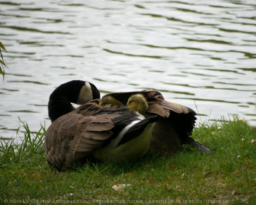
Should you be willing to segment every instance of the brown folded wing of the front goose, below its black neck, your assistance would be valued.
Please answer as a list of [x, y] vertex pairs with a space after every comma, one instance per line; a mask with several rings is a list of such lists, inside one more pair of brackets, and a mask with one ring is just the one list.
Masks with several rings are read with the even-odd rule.
[[114, 123], [108, 115], [83, 116], [71, 112], [55, 120], [45, 134], [47, 161], [68, 169], [91, 156], [112, 135]]

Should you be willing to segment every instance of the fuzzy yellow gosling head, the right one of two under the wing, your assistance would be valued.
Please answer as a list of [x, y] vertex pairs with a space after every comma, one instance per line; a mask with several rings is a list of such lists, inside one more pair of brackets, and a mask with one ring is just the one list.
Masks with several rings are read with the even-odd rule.
[[140, 114], [145, 114], [149, 105], [147, 103], [146, 98], [142, 94], [131, 95], [128, 99], [127, 107], [132, 111], [138, 111]]

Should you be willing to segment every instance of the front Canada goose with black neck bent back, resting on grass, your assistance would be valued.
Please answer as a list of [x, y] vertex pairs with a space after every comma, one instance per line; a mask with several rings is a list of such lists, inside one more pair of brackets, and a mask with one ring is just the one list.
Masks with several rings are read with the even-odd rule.
[[[89, 158], [129, 161], [148, 152], [157, 115], [145, 119], [127, 107], [100, 107], [93, 102], [97, 98], [99, 91], [86, 81], [69, 81], [53, 91], [48, 102], [52, 124], [45, 134], [48, 163], [71, 169]], [[71, 103], [82, 105], [75, 109]]]

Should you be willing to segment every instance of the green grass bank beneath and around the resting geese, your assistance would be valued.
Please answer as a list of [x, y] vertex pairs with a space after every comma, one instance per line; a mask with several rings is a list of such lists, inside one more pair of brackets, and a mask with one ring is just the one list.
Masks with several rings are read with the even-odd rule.
[[[45, 160], [45, 129], [31, 136], [23, 124], [22, 144], [0, 145], [0, 204], [256, 204], [256, 142], [251, 143], [256, 129], [237, 115], [232, 118], [201, 122], [195, 128], [192, 137], [216, 149], [211, 155], [187, 147], [172, 157], [89, 162], [66, 172]], [[115, 191], [112, 186], [118, 184], [130, 186]]]

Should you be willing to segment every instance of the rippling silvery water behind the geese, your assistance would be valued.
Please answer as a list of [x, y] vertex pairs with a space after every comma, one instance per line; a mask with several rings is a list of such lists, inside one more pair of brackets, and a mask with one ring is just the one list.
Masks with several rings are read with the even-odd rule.
[[[5, 63], [0, 136], [50, 125], [58, 85], [145, 88], [196, 110], [256, 125], [256, 0], [0, 0]], [[197, 108], [196, 108], [197, 107]], [[21, 137], [24, 128], [20, 128]]]

